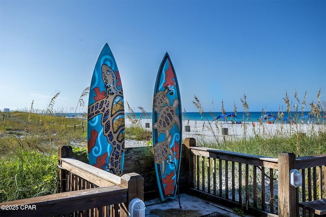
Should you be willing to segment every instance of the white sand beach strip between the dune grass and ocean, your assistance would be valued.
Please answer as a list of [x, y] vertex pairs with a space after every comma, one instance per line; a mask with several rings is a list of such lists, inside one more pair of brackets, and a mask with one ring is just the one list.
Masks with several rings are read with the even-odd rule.
[[[152, 130], [152, 119], [142, 119], [142, 127], [149, 131]], [[125, 119], [126, 127], [131, 126], [131, 122]], [[147, 125], [147, 126], [146, 126]], [[149, 127], [148, 127], [149, 126]], [[190, 131], [185, 131], [185, 126], [189, 126]], [[214, 142], [216, 139], [241, 139], [243, 137], [260, 136], [290, 136], [297, 133], [303, 133], [307, 136], [324, 131], [323, 125], [316, 124], [291, 124], [291, 123], [267, 123], [267, 122], [246, 122], [231, 123], [230, 121], [182, 121], [182, 140], [187, 137], [195, 138], [200, 142]], [[146, 146], [145, 141], [126, 140], [126, 147]]]

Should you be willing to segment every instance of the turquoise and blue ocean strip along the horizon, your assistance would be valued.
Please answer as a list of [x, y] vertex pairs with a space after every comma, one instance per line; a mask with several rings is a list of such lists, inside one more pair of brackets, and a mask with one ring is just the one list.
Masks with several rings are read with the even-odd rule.
[[[135, 112], [134, 113], [136, 118], [142, 119], [152, 119], [152, 113], [141, 113]], [[226, 112], [226, 115], [231, 114], [231, 112]], [[127, 115], [131, 115], [131, 113], [125, 113], [125, 118]], [[270, 116], [271, 115], [271, 116]], [[324, 114], [325, 115], [325, 114]], [[324, 115], [320, 118], [319, 122], [325, 121]], [[214, 118], [222, 116], [222, 112], [203, 112], [201, 115], [199, 112], [182, 112], [182, 119], [183, 120], [205, 120], [205, 121], [213, 121]], [[228, 117], [228, 121], [231, 121], [232, 117]], [[270, 122], [317, 122], [317, 118], [314, 118], [310, 115], [310, 112], [284, 112], [283, 117], [280, 116], [279, 112], [248, 112], [248, 115], [245, 112], [237, 112], [236, 117], [233, 117], [234, 121], [241, 121], [241, 122], [257, 122], [259, 119], [263, 121], [270, 121]], [[223, 118], [219, 118], [219, 120], [223, 120]]]

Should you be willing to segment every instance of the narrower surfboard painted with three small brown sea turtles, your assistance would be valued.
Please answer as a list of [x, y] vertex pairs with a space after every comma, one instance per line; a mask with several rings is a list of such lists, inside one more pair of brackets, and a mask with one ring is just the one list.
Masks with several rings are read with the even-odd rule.
[[168, 53], [159, 67], [153, 98], [154, 167], [161, 201], [174, 199], [181, 163], [181, 100], [177, 76]]

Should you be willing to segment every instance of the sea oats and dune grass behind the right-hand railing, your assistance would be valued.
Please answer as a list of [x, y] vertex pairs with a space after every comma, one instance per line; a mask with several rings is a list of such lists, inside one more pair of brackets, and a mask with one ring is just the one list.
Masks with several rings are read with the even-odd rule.
[[[240, 153], [255, 154], [258, 156], [267, 156], [277, 158], [280, 152], [292, 152], [295, 153], [297, 157], [303, 156], [312, 156], [320, 153], [326, 152], [326, 123], [324, 116], [324, 111], [326, 106], [324, 102], [319, 100], [321, 94], [320, 90], [317, 94], [316, 102], [311, 102], [310, 105], [310, 115], [317, 119], [316, 123], [311, 123], [309, 128], [305, 128], [306, 132], [303, 133], [304, 125], [301, 121], [297, 119], [304, 113], [304, 108], [306, 106], [306, 96], [307, 91], [305, 92], [304, 99], [301, 101], [297, 97], [295, 91], [294, 98], [295, 101], [292, 102], [286, 93], [285, 98], [283, 98], [286, 109], [278, 112], [277, 118], [281, 119], [284, 117], [284, 113], [290, 113], [294, 111], [293, 120], [289, 123], [282, 122], [278, 127], [279, 129], [275, 132], [270, 132], [270, 129], [262, 122], [262, 120], [256, 122], [247, 122], [244, 117], [241, 122], [242, 136], [241, 137], [232, 137], [232, 136], [223, 136], [223, 139], [219, 139], [218, 132], [221, 130], [224, 125], [223, 121], [209, 121], [209, 118], [206, 117], [207, 121], [201, 127], [202, 132], [204, 129], [208, 129], [213, 135], [212, 138], [205, 138], [205, 134], [198, 131], [199, 139], [197, 140], [197, 145], [212, 147], [222, 150], [235, 151]], [[250, 116], [249, 105], [247, 103], [247, 96], [243, 95], [243, 98], [240, 98], [242, 103], [243, 113], [247, 117]], [[199, 113], [202, 114], [204, 108], [202, 107], [200, 100], [194, 96], [193, 104], [198, 109]], [[301, 110], [300, 110], [301, 109]], [[225, 114], [224, 103], [222, 101], [221, 111]], [[234, 113], [237, 114], [237, 107], [234, 104]], [[266, 109], [262, 111], [266, 113]], [[231, 124], [231, 126], [233, 123]], [[259, 128], [257, 128], [257, 125]], [[195, 127], [198, 129], [198, 127]], [[253, 135], [248, 136], [248, 130], [251, 128]], [[200, 129], [200, 128], [199, 128]], [[215, 130], [213, 130], [215, 129]]]

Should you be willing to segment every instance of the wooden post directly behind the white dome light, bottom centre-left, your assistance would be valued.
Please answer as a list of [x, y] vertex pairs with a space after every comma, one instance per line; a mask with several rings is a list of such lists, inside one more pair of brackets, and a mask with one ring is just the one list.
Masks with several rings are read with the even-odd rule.
[[120, 216], [128, 216], [128, 206], [132, 199], [139, 198], [144, 201], [144, 178], [137, 173], [127, 173], [121, 176], [121, 185], [128, 188], [127, 202], [121, 204]]

